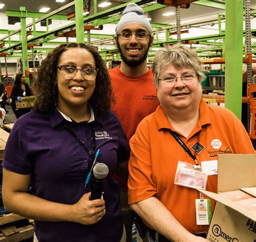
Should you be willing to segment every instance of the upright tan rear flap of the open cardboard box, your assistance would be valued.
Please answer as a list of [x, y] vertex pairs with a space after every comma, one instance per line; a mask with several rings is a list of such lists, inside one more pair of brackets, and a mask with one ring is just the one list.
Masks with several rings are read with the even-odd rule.
[[218, 155], [218, 192], [256, 186], [255, 174], [256, 154]]

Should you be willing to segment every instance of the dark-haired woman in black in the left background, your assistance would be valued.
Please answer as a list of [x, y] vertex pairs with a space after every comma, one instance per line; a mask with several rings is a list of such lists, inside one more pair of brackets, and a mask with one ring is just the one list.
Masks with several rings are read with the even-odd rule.
[[15, 101], [21, 101], [23, 96], [31, 96], [32, 92], [28, 84], [26, 84], [26, 78], [23, 73], [18, 73], [15, 77], [14, 87], [11, 91], [11, 108], [14, 111], [17, 119], [22, 115], [31, 111], [31, 108], [16, 108]]

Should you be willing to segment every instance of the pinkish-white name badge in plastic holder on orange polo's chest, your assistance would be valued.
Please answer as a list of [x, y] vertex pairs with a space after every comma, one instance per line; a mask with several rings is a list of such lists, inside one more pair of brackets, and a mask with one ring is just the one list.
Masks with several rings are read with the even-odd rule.
[[174, 184], [188, 188], [206, 189], [207, 173], [193, 169], [194, 165], [179, 161]]

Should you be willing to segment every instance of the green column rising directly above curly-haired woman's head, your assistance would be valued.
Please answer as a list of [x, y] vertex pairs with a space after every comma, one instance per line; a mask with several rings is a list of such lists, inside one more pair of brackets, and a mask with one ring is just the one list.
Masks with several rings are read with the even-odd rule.
[[77, 43], [84, 43], [84, 1], [75, 0]]

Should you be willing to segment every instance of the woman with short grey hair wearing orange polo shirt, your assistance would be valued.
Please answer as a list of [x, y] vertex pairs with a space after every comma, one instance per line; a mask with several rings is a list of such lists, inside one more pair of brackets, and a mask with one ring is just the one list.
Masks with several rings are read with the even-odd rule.
[[[197, 224], [201, 202], [194, 188], [217, 192], [218, 154], [255, 154], [241, 121], [201, 98], [201, 70], [197, 53], [183, 44], [156, 52], [160, 105], [130, 140], [128, 180], [129, 204], [150, 226], [149, 241], [208, 241], [208, 218]], [[201, 171], [200, 178], [186, 176], [185, 168]]]

